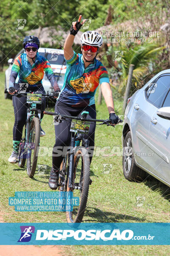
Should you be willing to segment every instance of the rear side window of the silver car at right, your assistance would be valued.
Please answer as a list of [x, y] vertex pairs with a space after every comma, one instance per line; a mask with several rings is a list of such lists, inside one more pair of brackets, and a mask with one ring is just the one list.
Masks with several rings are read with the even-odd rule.
[[161, 76], [156, 82], [149, 85], [147, 89], [147, 99], [159, 108], [165, 95], [170, 89], [170, 76]]

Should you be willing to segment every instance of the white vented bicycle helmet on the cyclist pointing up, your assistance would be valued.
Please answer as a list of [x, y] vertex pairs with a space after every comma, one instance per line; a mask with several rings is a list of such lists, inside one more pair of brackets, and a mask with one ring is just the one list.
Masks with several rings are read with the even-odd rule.
[[103, 43], [103, 38], [96, 31], [86, 31], [81, 35], [80, 42], [82, 44], [101, 47]]

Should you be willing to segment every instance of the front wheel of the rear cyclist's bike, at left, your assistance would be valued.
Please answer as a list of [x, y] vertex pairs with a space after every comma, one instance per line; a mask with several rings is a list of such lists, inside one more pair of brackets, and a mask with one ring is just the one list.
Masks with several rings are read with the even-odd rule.
[[30, 178], [34, 177], [37, 167], [38, 150], [40, 145], [40, 121], [34, 117], [27, 131], [28, 138], [28, 157], [27, 157], [27, 174]]

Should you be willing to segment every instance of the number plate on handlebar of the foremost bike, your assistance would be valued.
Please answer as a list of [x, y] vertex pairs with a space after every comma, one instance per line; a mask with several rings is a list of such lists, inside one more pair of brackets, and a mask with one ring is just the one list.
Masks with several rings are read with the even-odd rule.
[[88, 134], [90, 122], [73, 119], [71, 122], [70, 131]]

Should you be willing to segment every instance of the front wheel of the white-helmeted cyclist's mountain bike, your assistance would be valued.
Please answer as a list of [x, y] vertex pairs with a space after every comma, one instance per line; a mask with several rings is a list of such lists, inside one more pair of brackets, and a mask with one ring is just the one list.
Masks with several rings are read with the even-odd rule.
[[79, 206], [74, 206], [73, 211], [66, 212], [68, 223], [81, 222], [85, 213], [88, 200], [90, 182], [90, 160], [88, 150], [80, 147], [74, 155], [73, 188], [68, 187], [67, 192], [73, 192], [73, 196], [79, 197]]

